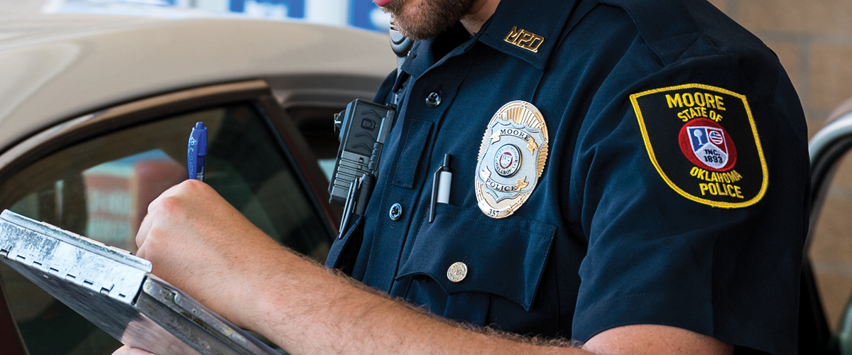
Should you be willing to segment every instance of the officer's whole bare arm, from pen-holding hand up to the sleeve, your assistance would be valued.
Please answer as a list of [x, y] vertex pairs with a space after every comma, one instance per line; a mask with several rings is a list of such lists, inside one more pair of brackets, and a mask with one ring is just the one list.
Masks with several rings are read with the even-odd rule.
[[[584, 353], [483, 335], [390, 300], [280, 247], [198, 180], [151, 203], [136, 243], [156, 275], [294, 354]], [[720, 344], [683, 329], [633, 326], [603, 331], [586, 346], [607, 354], [730, 353]]]

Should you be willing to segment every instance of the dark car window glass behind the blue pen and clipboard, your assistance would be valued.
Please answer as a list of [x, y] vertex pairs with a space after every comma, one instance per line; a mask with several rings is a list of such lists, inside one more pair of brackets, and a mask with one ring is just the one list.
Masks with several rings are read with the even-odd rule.
[[[4, 181], [0, 208], [135, 251], [148, 203], [187, 179], [187, 139], [199, 121], [208, 128], [206, 182], [279, 243], [323, 261], [331, 240], [325, 222], [249, 104], [167, 117], [68, 146]], [[8, 266], [0, 267], [0, 278], [31, 355], [110, 354], [120, 346]]]

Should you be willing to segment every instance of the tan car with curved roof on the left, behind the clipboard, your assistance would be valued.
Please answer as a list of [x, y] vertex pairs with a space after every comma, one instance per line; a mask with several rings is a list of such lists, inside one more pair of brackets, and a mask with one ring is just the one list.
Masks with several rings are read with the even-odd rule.
[[[305, 23], [0, 21], [0, 209], [132, 251], [147, 204], [187, 179], [187, 139], [203, 121], [206, 182], [323, 261], [339, 221], [326, 191], [332, 114], [371, 99], [395, 64], [386, 35]], [[5, 265], [0, 289], [0, 354], [120, 346]]]

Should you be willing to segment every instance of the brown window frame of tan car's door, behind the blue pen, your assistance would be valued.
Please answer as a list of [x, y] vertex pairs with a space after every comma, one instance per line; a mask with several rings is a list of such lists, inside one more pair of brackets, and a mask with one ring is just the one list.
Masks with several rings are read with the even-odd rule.
[[[337, 234], [339, 213], [328, 203], [327, 186], [323, 186], [327, 184], [325, 175], [316, 164], [316, 157], [310, 152], [308, 143], [285, 115], [268, 83], [262, 79], [179, 89], [111, 106], [45, 128], [0, 154], [0, 182], [30, 163], [84, 140], [164, 117], [240, 102], [250, 103], [274, 133], [282, 152], [294, 168], [294, 174], [308, 191], [316, 212], [322, 216], [331, 243], [331, 238]], [[26, 344], [20, 336], [5, 295], [3, 281], [0, 280], [0, 343], [9, 345], [3, 353], [26, 355]]]

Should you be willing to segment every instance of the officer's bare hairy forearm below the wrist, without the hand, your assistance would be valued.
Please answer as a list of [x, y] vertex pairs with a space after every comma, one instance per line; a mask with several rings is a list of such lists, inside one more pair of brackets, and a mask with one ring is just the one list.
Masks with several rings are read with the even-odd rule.
[[589, 353], [465, 329], [281, 251], [246, 323], [294, 354]]

